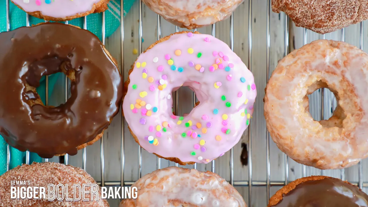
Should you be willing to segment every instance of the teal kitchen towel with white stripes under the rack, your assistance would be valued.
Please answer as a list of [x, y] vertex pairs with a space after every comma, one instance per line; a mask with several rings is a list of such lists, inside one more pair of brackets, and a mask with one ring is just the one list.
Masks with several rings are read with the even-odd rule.
[[[7, 30], [7, 16], [6, 16], [6, 1], [0, 0], [0, 32]], [[135, 0], [124, 0], [124, 16], [128, 13]], [[120, 26], [120, 0], [110, 0], [108, 3], [108, 10], [105, 12], [105, 36], [106, 38], [112, 35]], [[42, 19], [29, 16], [30, 25], [35, 25], [40, 22], [45, 22]], [[18, 27], [26, 26], [26, 13], [15, 6], [9, 0], [9, 23], [10, 30]], [[77, 18], [68, 22], [68, 24], [83, 28], [84, 18]], [[87, 16], [87, 29], [102, 40], [102, 13], [90, 14]], [[49, 76], [49, 97], [51, 96], [54, 85], [61, 74], [53, 74]], [[41, 78], [40, 87], [37, 88], [40, 98], [45, 103], [45, 77]], [[25, 152], [20, 152], [14, 148], [10, 148], [10, 166], [12, 169], [22, 163], [25, 163]], [[41, 162], [42, 159], [35, 153], [30, 154], [30, 162]], [[0, 175], [6, 172], [7, 165], [7, 144], [3, 137], [0, 136]]]

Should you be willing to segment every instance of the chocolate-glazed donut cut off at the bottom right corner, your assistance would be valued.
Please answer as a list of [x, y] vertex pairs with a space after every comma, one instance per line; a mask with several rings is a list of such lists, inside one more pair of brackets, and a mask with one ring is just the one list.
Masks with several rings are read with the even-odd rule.
[[368, 206], [368, 195], [346, 181], [327, 176], [294, 180], [276, 192], [268, 207]]

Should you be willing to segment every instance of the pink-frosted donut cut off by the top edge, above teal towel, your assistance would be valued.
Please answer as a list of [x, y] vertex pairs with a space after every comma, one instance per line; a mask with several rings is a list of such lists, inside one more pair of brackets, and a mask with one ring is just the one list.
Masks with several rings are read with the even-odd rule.
[[33, 17], [46, 21], [69, 21], [107, 10], [110, 0], [11, 0]]

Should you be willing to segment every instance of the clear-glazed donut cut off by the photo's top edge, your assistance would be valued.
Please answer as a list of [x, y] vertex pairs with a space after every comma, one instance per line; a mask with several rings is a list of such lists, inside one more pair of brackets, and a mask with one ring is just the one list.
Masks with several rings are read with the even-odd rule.
[[195, 29], [230, 17], [244, 0], [142, 0], [148, 8], [166, 21], [187, 29]]

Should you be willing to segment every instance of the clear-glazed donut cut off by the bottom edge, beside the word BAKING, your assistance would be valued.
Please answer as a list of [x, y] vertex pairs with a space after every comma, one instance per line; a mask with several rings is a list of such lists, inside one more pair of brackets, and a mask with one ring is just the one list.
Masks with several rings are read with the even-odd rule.
[[137, 199], [124, 199], [119, 207], [247, 207], [236, 189], [213, 172], [168, 167], [143, 176], [132, 186], [140, 187]]

